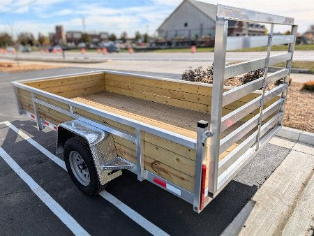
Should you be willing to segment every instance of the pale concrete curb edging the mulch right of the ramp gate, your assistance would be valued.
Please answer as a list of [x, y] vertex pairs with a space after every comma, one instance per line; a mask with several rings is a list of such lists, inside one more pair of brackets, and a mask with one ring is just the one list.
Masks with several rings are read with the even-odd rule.
[[289, 140], [304, 142], [308, 145], [314, 145], [314, 133], [300, 131], [299, 129], [283, 126], [278, 133], [278, 137], [287, 138]]

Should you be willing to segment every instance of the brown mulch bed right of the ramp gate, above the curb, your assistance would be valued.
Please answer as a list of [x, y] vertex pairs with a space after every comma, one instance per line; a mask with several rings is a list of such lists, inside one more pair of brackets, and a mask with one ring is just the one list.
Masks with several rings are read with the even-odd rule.
[[283, 125], [314, 133], [314, 93], [301, 90], [302, 87], [301, 83], [291, 83]]

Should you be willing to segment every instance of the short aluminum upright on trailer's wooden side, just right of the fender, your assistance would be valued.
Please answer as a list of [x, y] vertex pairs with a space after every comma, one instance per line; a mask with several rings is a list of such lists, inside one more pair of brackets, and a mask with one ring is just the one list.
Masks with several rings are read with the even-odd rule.
[[136, 165], [137, 179], [143, 181], [144, 177], [144, 142], [142, 132], [139, 128], [135, 129], [135, 145], [136, 145]]

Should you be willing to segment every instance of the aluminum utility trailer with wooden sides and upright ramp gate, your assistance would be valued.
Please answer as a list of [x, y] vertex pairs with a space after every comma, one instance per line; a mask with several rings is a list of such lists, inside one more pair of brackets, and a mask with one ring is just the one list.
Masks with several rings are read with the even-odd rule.
[[[270, 33], [230, 37], [229, 20], [268, 23]], [[274, 36], [274, 24], [290, 25], [291, 35]], [[213, 84], [94, 71], [13, 87], [20, 114], [58, 132], [57, 152], [84, 193], [130, 170], [201, 212], [281, 128], [296, 33], [289, 17], [217, 5]], [[271, 55], [271, 45], [283, 44], [287, 52]], [[258, 46], [268, 47], [265, 57], [226, 66], [227, 50]], [[283, 61], [285, 68], [268, 73]], [[262, 78], [223, 86], [260, 68]]]

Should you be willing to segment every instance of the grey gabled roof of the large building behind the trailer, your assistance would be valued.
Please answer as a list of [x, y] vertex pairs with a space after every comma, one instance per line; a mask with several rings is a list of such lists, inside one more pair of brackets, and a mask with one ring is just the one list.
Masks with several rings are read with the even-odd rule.
[[189, 2], [191, 3], [193, 6], [195, 6], [195, 8], [197, 8], [198, 10], [202, 11], [202, 13], [204, 13], [204, 15], [207, 15], [207, 17], [209, 17], [211, 20], [214, 20], [214, 22], [216, 22], [216, 16], [217, 16], [217, 6], [211, 3], [204, 3], [202, 1], [195, 1], [195, 0], [184, 0], [182, 1], [179, 6], [177, 6], [177, 8], [163, 21], [163, 23], [160, 24], [160, 27], [158, 27], [157, 30], [159, 30], [161, 27], [163, 27], [163, 24], [165, 24], [165, 22], [167, 22], [167, 20], [170, 19], [170, 17], [180, 8], [180, 6], [183, 3]]

